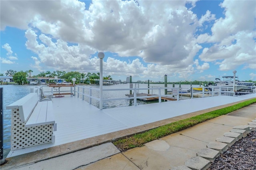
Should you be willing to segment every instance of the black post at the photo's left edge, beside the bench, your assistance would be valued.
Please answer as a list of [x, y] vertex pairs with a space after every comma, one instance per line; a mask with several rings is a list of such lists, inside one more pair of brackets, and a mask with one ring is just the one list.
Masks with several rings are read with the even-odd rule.
[[0, 164], [5, 164], [7, 161], [4, 159], [4, 113], [3, 113], [3, 96], [4, 96], [4, 88], [0, 87], [0, 111], [1, 111], [1, 118], [0, 118], [0, 124], [1, 124], [1, 128], [0, 128], [0, 151], [1, 151], [1, 158], [0, 158]]

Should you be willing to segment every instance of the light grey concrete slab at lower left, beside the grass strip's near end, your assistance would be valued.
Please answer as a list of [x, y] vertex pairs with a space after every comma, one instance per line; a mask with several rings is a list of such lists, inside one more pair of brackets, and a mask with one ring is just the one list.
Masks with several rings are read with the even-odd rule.
[[81, 165], [96, 162], [108, 156], [120, 153], [112, 143], [101, 144], [85, 150], [43, 160], [16, 170], [71, 170]]

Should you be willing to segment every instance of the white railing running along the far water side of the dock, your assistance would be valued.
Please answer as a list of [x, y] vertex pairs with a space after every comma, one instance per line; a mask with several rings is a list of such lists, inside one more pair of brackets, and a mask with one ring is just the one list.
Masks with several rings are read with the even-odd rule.
[[[164, 94], [165, 89], [172, 91], [172, 88], [177, 89], [178, 88], [178, 95], [174, 96], [173, 94]], [[158, 98], [158, 103], [162, 102], [162, 98], [163, 97], [170, 97], [172, 99], [183, 99], [182, 95], [186, 95], [187, 98], [194, 98], [194, 96], [201, 94], [200, 97], [210, 97], [210, 96], [216, 96], [216, 95], [228, 95], [228, 96], [234, 96], [234, 92], [233, 92], [233, 87], [225, 87], [225, 90], [222, 90], [223, 87], [220, 86], [211, 86], [211, 87], [204, 87], [202, 86], [202, 91], [193, 91], [192, 87], [191, 87], [191, 91], [188, 92], [190, 93], [189, 97], [188, 94], [184, 94], [185, 91], [187, 91], [187, 88], [182, 88], [182, 87], [147, 87], [147, 88], [127, 88], [127, 89], [102, 89], [103, 92], [104, 91], [127, 91], [129, 96], [126, 97], [115, 97], [115, 98], [107, 98], [107, 99], [102, 99], [103, 102], [107, 102], [107, 101], [119, 101], [119, 100], [134, 100], [134, 106], [137, 105], [136, 101], [137, 99], [147, 99], [147, 98]], [[138, 93], [138, 91], [149, 91], [151, 92], [151, 94], [148, 95], [143, 95], [140, 96], [141, 93]], [[157, 94], [153, 94], [153, 90], [157, 93]], [[32, 89], [31, 89], [32, 91]], [[51, 89], [51, 91], [53, 92], [53, 88]], [[40, 95], [38, 89], [33, 89], [34, 93], [38, 93], [38, 95]], [[47, 92], [47, 91], [46, 91]], [[67, 91], [61, 91], [61, 92], [67, 92]], [[73, 95], [81, 98], [82, 100], [86, 100], [88, 101], [89, 104], [92, 104], [92, 99], [96, 100], [96, 101], [100, 101], [100, 95], [98, 95], [100, 93], [100, 89], [98, 88], [94, 88], [94, 87], [87, 87], [87, 86], [83, 86], [83, 85], [76, 85], [73, 88], [70, 89], [71, 93], [74, 93]], [[130, 93], [129, 93], [130, 92]], [[132, 93], [131, 93], [132, 92]], [[145, 93], [147, 94], [147, 93]], [[73, 96], [72, 95], [72, 96]], [[173, 98], [174, 97], [174, 98]], [[198, 96], [199, 97], [199, 96]], [[87, 99], [86, 99], [87, 98]]]

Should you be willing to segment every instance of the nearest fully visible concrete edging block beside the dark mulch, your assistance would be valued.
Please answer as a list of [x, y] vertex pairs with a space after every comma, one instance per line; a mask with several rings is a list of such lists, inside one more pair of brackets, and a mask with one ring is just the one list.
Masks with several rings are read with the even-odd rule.
[[207, 170], [210, 167], [210, 161], [200, 156], [196, 156], [186, 160], [185, 166], [192, 170]]

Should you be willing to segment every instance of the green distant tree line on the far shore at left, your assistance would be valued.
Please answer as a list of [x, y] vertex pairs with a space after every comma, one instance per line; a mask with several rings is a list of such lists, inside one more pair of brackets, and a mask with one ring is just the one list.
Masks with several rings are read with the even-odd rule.
[[[79, 73], [78, 71], [70, 71], [66, 73], [66, 71], [46, 71], [40, 72], [38, 75], [31, 75], [32, 70], [28, 71], [14, 71], [14, 70], [7, 70], [5, 75], [13, 77], [15, 83], [22, 85], [23, 83], [28, 83], [27, 78], [38, 78], [38, 77], [48, 77], [48, 83], [52, 83], [53, 80], [50, 80], [50, 77], [58, 77], [58, 79], [65, 79], [67, 82], [72, 82], [73, 78], [76, 78], [75, 83], [82, 83], [82, 84], [95, 84], [95, 80], [100, 79], [100, 73]], [[0, 73], [0, 76], [4, 76], [3, 73]], [[107, 77], [103, 77], [103, 79], [110, 79], [112, 77], [108, 75]]]

